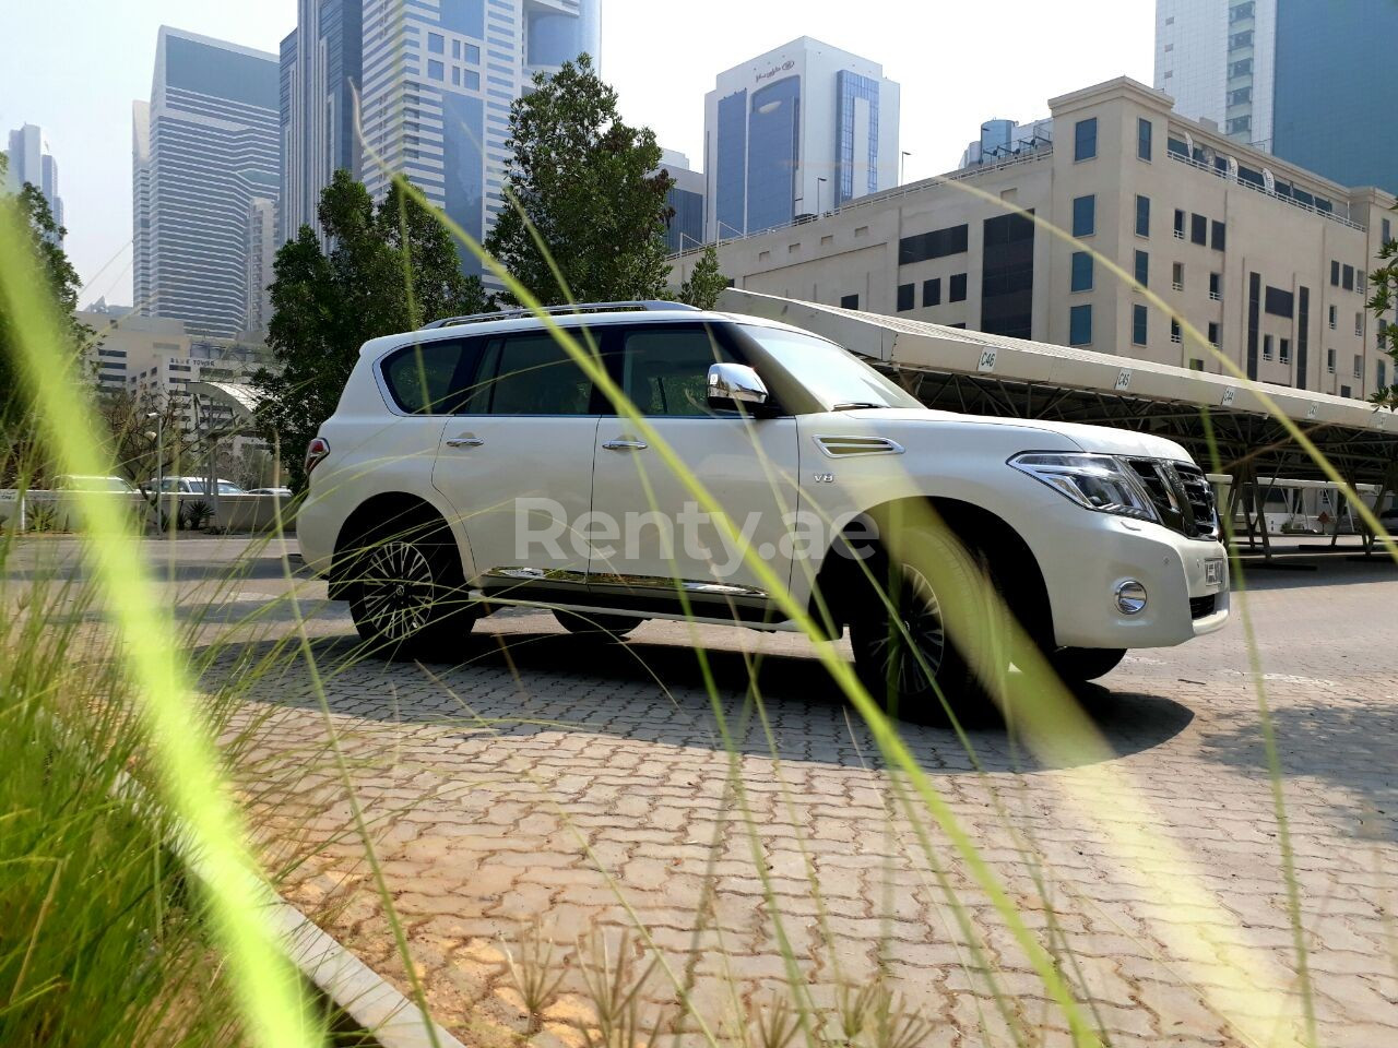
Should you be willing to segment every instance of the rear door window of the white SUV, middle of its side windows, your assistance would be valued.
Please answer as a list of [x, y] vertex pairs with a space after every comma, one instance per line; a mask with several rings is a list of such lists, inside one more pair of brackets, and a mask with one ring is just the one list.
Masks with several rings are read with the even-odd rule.
[[491, 342], [466, 411], [478, 415], [590, 415], [593, 383], [545, 333]]

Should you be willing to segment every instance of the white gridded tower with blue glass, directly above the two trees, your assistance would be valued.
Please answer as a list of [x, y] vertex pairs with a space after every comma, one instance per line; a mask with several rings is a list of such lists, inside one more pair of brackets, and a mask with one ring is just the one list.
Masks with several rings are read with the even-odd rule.
[[[405, 175], [477, 240], [505, 207], [510, 103], [597, 57], [600, 0], [363, 0], [363, 182]], [[480, 264], [464, 247], [463, 264]]]

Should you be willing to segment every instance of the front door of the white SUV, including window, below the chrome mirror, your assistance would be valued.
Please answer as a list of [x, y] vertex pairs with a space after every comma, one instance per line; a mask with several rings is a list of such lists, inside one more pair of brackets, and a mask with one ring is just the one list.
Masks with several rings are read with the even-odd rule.
[[795, 419], [710, 409], [709, 366], [745, 363], [721, 326], [628, 326], [617, 342], [614, 367], [626, 394], [742, 541], [726, 542], [682, 475], [625, 418], [608, 414], [593, 465], [593, 513], [601, 521], [594, 534], [607, 541], [593, 544], [590, 587], [612, 598], [661, 599], [674, 598], [678, 585], [696, 601], [763, 606], [770, 587], [742, 553], [751, 546], [790, 583], [788, 527], [800, 509]]

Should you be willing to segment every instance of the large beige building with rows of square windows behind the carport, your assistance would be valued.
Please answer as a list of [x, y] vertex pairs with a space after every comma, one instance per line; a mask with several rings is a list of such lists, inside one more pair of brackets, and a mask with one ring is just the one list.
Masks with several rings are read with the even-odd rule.
[[[1392, 380], [1364, 305], [1392, 196], [1240, 147], [1131, 80], [1048, 106], [1051, 137], [720, 242], [724, 272], [749, 291], [1222, 370], [1174, 313], [1262, 381], [1367, 397]], [[696, 257], [675, 260], [677, 282]]]

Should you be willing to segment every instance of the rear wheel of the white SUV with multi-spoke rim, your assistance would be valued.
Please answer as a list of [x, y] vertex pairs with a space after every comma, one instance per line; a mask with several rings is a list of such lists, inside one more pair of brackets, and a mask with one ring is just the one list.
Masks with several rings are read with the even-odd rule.
[[461, 558], [442, 518], [398, 518], [355, 542], [350, 615], [372, 654], [435, 658], [460, 644], [480, 618], [467, 598]]

